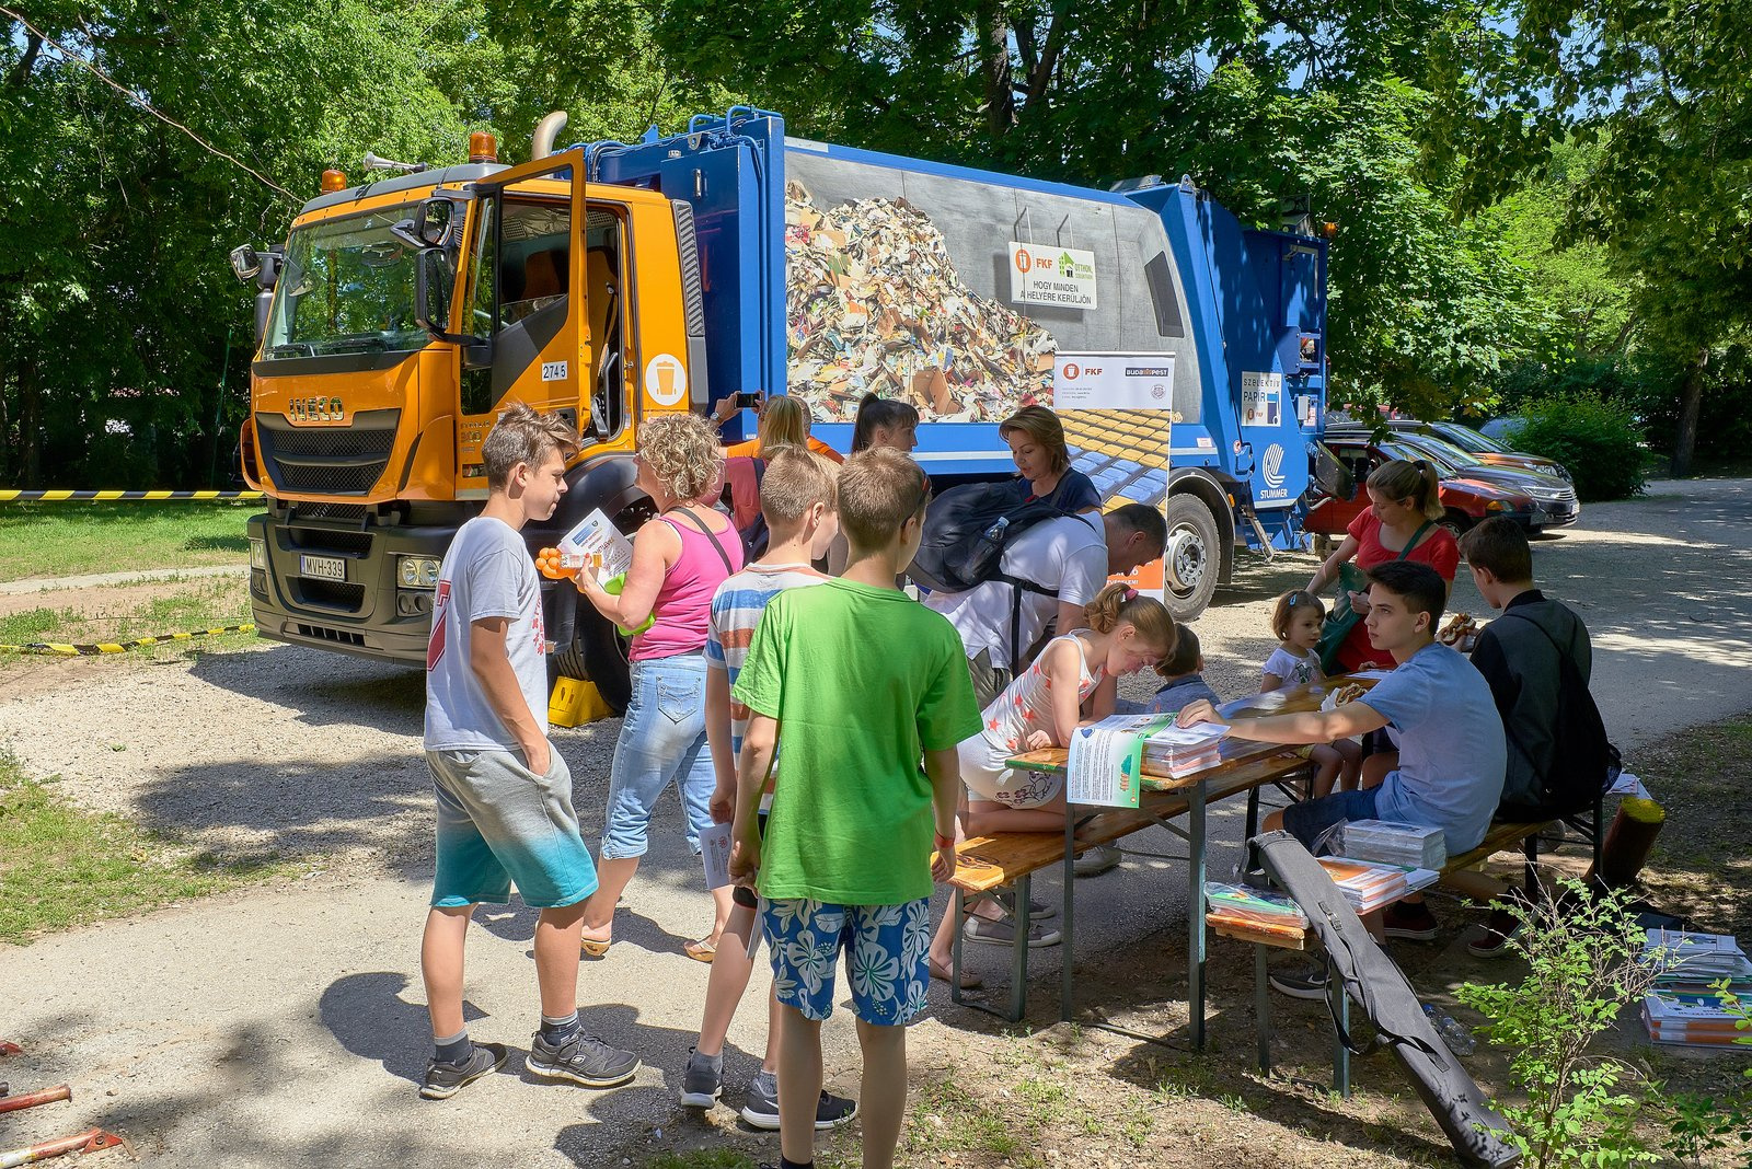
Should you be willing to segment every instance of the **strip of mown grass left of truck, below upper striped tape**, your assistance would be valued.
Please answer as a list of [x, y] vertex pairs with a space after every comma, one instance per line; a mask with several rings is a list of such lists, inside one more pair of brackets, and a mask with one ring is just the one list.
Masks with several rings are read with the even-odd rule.
[[0, 581], [249, 564], [261, 504], [0, 504]]

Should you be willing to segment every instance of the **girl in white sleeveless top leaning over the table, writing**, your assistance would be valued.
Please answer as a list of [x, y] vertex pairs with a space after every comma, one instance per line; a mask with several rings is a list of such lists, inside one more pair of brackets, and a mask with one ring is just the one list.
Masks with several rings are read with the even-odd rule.
[[[1063, 831], [1063, 774], [1028, 772], [1009, 766], [1027, 751], [1063, 747], [1077, 726], [1113, 714], [1114, 691], [1123, 676], [1174, 653], [1179, 630], [1155, 597], [1141, 597], [1125, 584], [1107, 584], [1083, 609], [1088, 628], [1046, 642], [1041, 656], [983, 712], [985, 726], [962, 740], [962, 782], [967, 810], [962, 831], [986, 836], [999, 831]], [[1014, 920], [999, 900], [979, 898], [967, 906], [964, 934], [969, 942], [1009, 945]], [[1046, 906], [1034, 906], [1028, 945], [1056, 945], [1058, 933], [1041, 926]], [[930, 973], [950, 976], [950, 945], [955, 938], [953, 906], [930, 942]], [[964, 971], [964, 987], [978, 985]]]

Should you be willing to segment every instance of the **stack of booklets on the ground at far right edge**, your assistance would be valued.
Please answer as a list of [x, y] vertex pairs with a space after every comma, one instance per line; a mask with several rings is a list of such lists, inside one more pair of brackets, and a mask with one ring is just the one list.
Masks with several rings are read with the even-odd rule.
[[1752, 1003], [1752, 961], [1731, 934], [1650, 929], [1643, 954], [1661, 975], [1643, 996], [1649, 1038], [1680, 1046], [1726, 1046], [1752, 1031], [1738, 1027], [1722, 990]]

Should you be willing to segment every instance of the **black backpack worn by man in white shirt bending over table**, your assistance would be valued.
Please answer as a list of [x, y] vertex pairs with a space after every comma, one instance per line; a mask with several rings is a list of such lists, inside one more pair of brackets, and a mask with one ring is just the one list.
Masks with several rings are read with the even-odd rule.
[[1013, 539], [1035, 523], [1067, 513], [1044, 499], [1025, 502], [1014, 483], [967, 483], [953, 486], [925, 513], [925, 539], [908, 576], [932, 592], [964, 593], [986, 581], [1009, 584], [1009, 665], [1020, 668], [1028, 646], [1021, 635], [1021, 595], [1056, 597], [1056, 588], [1007, 576], [1000, 564]]

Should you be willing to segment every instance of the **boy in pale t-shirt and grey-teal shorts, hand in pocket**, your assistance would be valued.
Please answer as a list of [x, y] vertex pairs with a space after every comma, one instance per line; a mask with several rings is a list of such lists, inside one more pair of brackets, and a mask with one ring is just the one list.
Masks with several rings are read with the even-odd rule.
[[487, 506], [450, 541], [426, 649], [426, 765], [438, 803], [438, 858], [420, 942], [433, 1059], [420, 1096], [447, 1099], [496, 1071], [499, 1043], [463, 1022], [463, 947], [475, 905], [503, 905], [512, 882], [536, 922], [541, 1029], [526, 1068], [592, 1088], [639, 1069], [578, 1024], [578, 931], [596, 866], [578, 835], [571, 772], [547, 738], [541, 584], [520, 536], [566, 494], [578, 436], [557, 415], [513, 404], [482, 443]]

